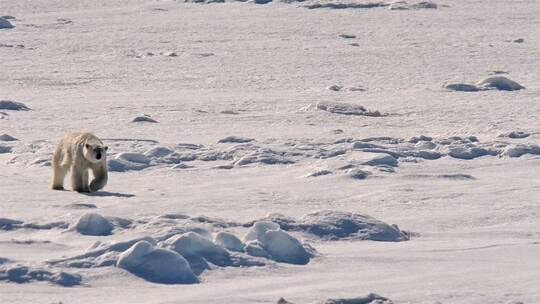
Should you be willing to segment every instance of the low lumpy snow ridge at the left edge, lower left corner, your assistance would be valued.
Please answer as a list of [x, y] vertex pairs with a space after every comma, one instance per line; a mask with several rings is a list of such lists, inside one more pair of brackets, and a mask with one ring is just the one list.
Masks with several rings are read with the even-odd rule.
[[21, 265], [6, 265], [0, 267], [0, 280], [14, 283], [30, 283], [37, 281], [71, 287], [81, 284], [81, 276], [64, 271], [49, 271], [40, 268], [31, 268]]

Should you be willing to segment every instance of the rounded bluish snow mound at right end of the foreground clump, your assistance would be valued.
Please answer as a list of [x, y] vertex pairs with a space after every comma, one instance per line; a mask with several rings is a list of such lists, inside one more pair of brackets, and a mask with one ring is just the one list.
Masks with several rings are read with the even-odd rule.
[[310, 254], [300, 241], [274, 222], [255, 222], [244, 236], [244, 241], [249, 255], [297, 265], [306, 265], [310, 260]]

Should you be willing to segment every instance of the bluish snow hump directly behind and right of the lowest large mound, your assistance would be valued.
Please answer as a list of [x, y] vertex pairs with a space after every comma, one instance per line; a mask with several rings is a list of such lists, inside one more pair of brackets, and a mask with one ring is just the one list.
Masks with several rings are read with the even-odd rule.
[[173, 236], [164, 245], [184, 256], [190, 264], [202, 257], [217, 266], [231, 265], [231, 256], [227, 250], [195, 232]]

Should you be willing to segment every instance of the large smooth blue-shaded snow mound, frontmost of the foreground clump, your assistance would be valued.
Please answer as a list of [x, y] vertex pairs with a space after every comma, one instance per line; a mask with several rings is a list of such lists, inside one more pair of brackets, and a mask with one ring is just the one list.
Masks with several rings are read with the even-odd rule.
[[147, 241], [139, 241], [120, 254], [116, 266], [154, 283], [199, 283], [186, 259], [174, 251], [156, 249]]

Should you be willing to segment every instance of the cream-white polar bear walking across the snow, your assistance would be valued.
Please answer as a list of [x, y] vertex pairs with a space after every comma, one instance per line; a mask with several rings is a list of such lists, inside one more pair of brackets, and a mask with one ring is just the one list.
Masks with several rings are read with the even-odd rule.
[[[91, 192], [102, 189], [107, 184], [107, 146], [94, 134], [66, 134], [52, 161], [52, 184], [54, 190], [64, 189], [64, 177], [71, 170], [71, 187], [77, 192]], [[88, 184], [88, 170], [94, 180]]]

